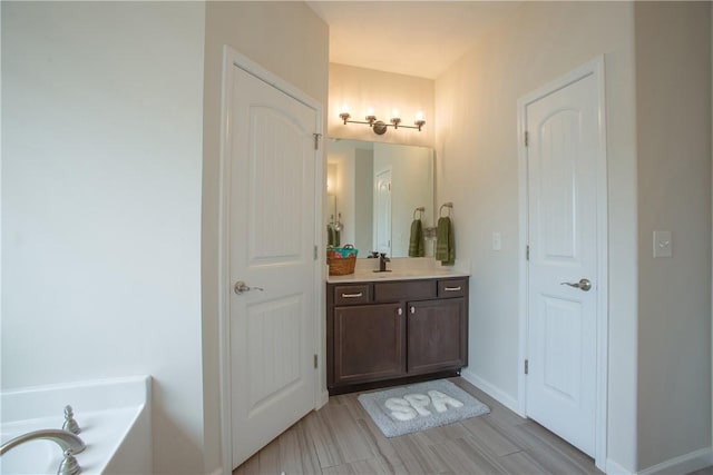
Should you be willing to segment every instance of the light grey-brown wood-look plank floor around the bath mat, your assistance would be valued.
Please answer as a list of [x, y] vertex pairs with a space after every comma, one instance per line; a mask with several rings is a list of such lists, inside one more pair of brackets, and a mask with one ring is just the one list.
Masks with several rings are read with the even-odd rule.
[[462, 378], [452, 378], [490, 414], [387, 438], [356, 399], [330, 397], [233, 475], [293, 474], [602, 474], [594, 461], [522, 419]]

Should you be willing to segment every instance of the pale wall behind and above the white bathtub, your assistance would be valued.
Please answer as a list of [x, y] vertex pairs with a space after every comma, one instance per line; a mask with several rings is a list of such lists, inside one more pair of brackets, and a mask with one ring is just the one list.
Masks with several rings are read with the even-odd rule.
[[198, 2], [2, 2], [2, 387], [154, 376], [156, 473], [203, 471], [203, 40]]

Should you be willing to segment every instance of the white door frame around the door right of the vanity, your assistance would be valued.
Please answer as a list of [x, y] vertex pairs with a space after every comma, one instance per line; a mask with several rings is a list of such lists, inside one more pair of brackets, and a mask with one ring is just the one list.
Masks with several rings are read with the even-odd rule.
[[519, 190], [519, 359], [518, 359], [518, 412], [527, 417], [527, 378], [524, 364], [528, 355], [528, 188], [527, 147], [525, 131], [527, 106], [543, 97], [565, 88], [587, 76], [593, 76], [597, 85], [598, 146], [596, 164], [596, 225], [597, 225], [597, 303], [596, 303], [596, 402], [595, 402], [595, 464], [604, 471], [606, 466], [607, 441], [607, 385], [608, 385], [608, 208], [607, 208], [607, 154], [605, 115], [605, 69], [604, 56], [599, 56], [567, 75], [536, 89], [517, 101], [518, 117], [518, 190]]

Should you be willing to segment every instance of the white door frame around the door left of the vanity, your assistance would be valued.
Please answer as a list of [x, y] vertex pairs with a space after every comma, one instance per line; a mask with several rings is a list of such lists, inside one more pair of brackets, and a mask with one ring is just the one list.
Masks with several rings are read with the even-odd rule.
[[[225, 475], [232, 473], [233, 465], [233, 434], [232, 434], [232, 408], [231, 408], [231, 283], [229, 283], [229, 199], [231, 199], [231, 160], [229, 150], [229, 123], [232, 103], [233, 67], [237, 67], [260, 80], [273, 86], [293, 99], [314, 109], [316, 115], [316, 133], [323, 137], [323, 108], [316, 99], [307, 96], [293, 85], [264, 69], [247, 57], [237, 52], [228, 44], [223, 47], [223, 83], [221, 92], [221, 156], [218, 166], [218, 372], [219, 372], [219, 414], [221, 414], [221, 464]], [[322, 232], [323, 221], [323, 181], [324, 181], [324, 152], [322, 140], [318, 140], [319, 147], [314, 150], [314, 245], [316, 249], [324, 246]], [[318, 360], [322, 362], [323, 352], [321, 344], [324, 335], [321, 315], [324, 315], [324, 290], [323, 290], [323, 259], [316, 253], [314, 259], [314, 354]], [[318, 365], [314, 376], [314, 408], [321, 407], [325, 400], [322, 390], [323, 365]], [[285, 427], [286, 428], [286, 427]]]

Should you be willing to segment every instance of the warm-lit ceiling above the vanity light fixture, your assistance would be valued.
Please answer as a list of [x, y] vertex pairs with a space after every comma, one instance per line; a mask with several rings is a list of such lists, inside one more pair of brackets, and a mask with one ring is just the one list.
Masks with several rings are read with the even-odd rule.
[[518, 1], [307, 1], [330, 27], [330, 62], [436, 79]]

